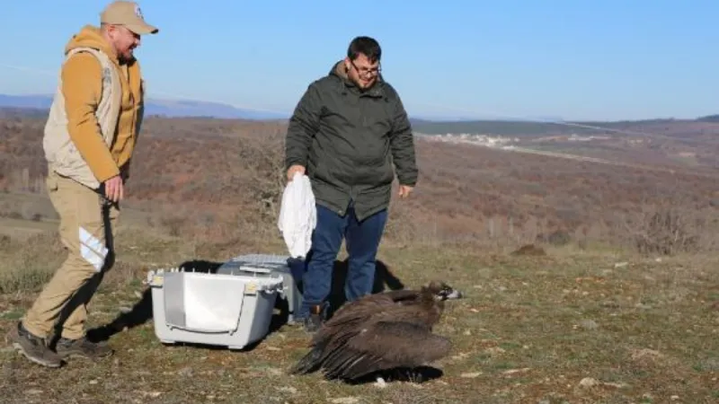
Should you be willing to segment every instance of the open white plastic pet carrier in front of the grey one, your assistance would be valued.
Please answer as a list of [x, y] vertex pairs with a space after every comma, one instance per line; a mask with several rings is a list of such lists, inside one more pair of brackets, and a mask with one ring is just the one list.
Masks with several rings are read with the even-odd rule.
[[[158, 269], [152, 288], [155, 335], [162, 342], [189, 342], [241, 349], [264, 338], [284, 276], [251, 261], [228, 261], [216, 273]], [[286, 264], [287, 265], [287, 264]]]

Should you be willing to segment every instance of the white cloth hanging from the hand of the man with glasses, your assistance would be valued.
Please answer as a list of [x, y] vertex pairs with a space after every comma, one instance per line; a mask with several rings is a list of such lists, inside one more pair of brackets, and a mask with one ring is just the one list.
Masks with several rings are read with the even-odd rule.
[[292, 258], [304, 258], [312, 246], [312, 232], [317, 224], [315, 194], [309, 177], [295, 173], [282, 192], [278, 227]]

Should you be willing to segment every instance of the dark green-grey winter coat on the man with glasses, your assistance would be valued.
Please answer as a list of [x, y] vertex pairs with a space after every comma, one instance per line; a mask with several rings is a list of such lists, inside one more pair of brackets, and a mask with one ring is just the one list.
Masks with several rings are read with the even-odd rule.
[[361, 92], [336, 63], [297, 103], [285, 164], [306, 167], [316, 202], [339, 215], [351, 200], [360, 221], [385, 209], [395, 171], [402, 185], [417, 181], [412, 127], [399, 95], [381, 76]]

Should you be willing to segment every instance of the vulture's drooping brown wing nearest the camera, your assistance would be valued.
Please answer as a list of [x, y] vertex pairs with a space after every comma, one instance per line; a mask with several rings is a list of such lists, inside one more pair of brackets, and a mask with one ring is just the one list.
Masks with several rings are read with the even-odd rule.
[[422, 324], [378, 321], [324, 353], [324, 373], [330, 378], [356, 379], [398, 367], [416, 367], [447, 356], [448, 338]]

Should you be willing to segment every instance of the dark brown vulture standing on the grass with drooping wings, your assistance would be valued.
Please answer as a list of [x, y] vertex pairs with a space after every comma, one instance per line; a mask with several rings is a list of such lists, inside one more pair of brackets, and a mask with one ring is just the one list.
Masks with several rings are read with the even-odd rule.
[[447, 356], [448, 338], [432, 333], [445, 301], [461, 292], [432, 281], [420, 290], [368, 294], [346, 303], [313, 336], [291, 374], [321, 370], [327, 379], [355, 381], [370, 373], [413, 372]]

